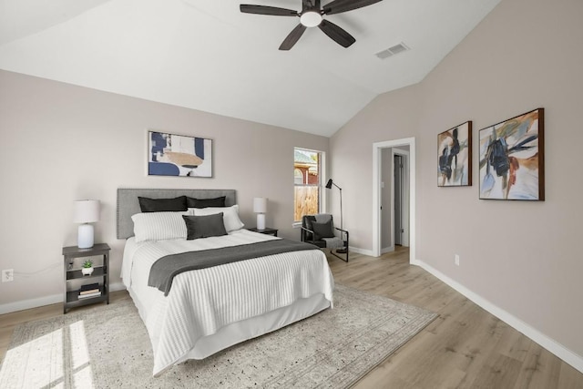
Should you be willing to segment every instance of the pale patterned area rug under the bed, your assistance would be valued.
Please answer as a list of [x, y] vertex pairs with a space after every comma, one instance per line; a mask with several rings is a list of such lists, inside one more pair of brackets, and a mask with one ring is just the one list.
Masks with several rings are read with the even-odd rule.
[[15, 328], [2, 388], [345, 388], [435, 319], [336, 285], [334, 308], [152, 377], [146, 327], [124, 299]]

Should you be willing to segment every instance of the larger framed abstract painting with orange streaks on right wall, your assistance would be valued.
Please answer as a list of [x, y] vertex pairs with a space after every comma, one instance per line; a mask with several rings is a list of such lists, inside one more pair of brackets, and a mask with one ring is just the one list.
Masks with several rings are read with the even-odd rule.
[[480, 129], [480, 199], [545, 200], [544, 108]]

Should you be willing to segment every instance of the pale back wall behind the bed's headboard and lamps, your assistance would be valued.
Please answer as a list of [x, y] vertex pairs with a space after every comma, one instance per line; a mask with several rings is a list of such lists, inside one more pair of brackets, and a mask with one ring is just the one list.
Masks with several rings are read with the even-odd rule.
[[[147, 129], [213, 139], [212, 179], [148, 177]], [[0, 71], [0, 312], [62, 299], [62, 247], [77, 245], [73, 200], [101, 200], [96, 241], [112, 247], [119, 282], [116, 190], [237, 189], [243, 222], [253, 197], [269, 198], [267, 224], [299, 240], [293, 222], [293, 148], [328, 151], [328, 138], [85, 87]]]

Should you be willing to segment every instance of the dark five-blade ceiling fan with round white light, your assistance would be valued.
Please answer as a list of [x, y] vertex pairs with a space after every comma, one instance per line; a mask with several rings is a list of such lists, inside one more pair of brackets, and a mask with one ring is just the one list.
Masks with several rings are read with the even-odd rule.
[[321, 7], [321, 0], [302, 0], [302, 12], [277, 6], [241, 4], [240, 12], [258, 15], [299, 16], [300, 24], [283, 40], [280, 50], [291, 49], [302, 37], [306, 28], [315, 26], [319, 27], [324, 34], [330, 36], [338, 45], [348, 47], [356, 42], [356, 39], [344, 31], [343, 28], [325, 20], [322, 16], [341, 14], [366, 5], [373, 5], [380, 1], [382, 0], [333, 0]]

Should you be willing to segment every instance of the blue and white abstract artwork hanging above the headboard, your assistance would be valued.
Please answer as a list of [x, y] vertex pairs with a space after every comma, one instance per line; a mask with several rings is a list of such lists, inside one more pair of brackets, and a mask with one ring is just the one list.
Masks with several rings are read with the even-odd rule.
[[212, 139], [148, 131], [148, 176], [212, 177]]

